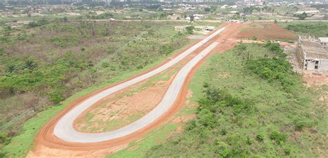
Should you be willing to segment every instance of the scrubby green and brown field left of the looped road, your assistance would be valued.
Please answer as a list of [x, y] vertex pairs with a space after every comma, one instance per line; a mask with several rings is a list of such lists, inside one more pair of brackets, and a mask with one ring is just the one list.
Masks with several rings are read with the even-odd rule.
[[174, 25], [42, 19], [1, 36], [0, 143], [75, 92], [143, 69], [183, 47], [187, 33], [177, 33]]

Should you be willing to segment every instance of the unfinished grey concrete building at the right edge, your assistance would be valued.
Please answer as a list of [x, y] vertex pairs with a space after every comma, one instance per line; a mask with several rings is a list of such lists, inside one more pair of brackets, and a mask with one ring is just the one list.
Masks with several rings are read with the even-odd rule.
[[302, 69], [328, 71], [328, 48], [322, 37], [299, 37], [298, 60]]

